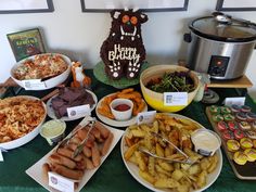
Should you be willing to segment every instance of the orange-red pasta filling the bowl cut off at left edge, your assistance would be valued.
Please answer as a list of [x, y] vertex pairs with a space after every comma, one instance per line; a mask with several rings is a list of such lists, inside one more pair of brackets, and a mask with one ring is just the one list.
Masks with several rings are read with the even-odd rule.
[[0, 100], [0, 143], [27, 135], [44, 117], [44, 105], [35, 98], [13, 97]]

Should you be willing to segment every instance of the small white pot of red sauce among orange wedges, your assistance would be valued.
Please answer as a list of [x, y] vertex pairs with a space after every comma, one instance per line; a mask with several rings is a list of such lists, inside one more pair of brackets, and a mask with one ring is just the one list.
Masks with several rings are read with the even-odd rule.
[[128, 120], [132, 116], [133, 103], [128, 99], [115, 99], [110, 106], [116, 120]]

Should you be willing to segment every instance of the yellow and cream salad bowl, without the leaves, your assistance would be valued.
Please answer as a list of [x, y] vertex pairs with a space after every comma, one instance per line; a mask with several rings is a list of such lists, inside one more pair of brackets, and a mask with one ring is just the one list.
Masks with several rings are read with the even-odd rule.
[[146, 103], [158, 112], [179, 112], [187, 107], [196, 95], [200, 87], [199, 77], [192, 71], [190, 72], [190, 77], [193, 80], [194, 89], [193, 91], [188, 92], [188, 102], [185, 105], [165, 105], [164, 93], [152, 91], [146, 88], [146, 85], [152, 79], [162, 78], [165, 73], [188, 71], [188, 68], [178, 65], [154, 65], [143, 71], [140, 76], [140, 87]]

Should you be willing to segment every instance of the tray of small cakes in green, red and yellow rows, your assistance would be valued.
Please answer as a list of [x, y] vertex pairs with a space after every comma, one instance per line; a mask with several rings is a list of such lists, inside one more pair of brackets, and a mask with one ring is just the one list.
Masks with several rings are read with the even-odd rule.
[[222, 139], [222, 148], [235, 176], [256, 179], [256, 114], [246, 105], [206, 107], [214, 130]]

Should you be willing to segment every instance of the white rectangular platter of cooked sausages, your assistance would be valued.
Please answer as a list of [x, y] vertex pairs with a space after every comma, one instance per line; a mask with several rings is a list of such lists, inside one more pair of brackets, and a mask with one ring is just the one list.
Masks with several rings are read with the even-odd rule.
[[[66, 137], [67, 142], [60, 142], [26, 170], [28, 176], [49, 191], [57, 192], [49, 185], [49, 172], [53, 172], [73, 181], [74, 191], [79, 192], [124, 133], [124, 130], [114, 129], [98, 120], [91, 130], [88, 125], [77, 126], [75, 129]], [[82, 151], [74, 157], [74, 152], [85, 140]]]

